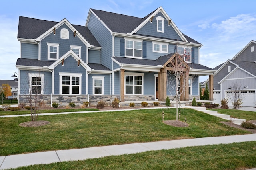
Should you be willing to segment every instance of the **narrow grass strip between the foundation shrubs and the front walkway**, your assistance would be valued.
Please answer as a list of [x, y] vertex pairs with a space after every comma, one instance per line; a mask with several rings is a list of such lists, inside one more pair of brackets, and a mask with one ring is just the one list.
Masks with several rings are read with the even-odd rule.
[[[49, 109], [40, 110], [39, 113], [61, 113], [61, 112], [76, 112], [76, 111], [97, 111], [99, 109]], [[0, 116], [4, 115], [26, 115], [30, 114], [30, 110], [19, 110], [19, 111], [0, 111]]]

